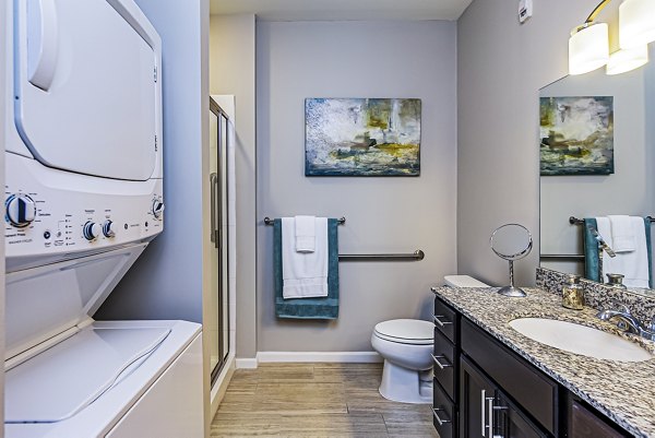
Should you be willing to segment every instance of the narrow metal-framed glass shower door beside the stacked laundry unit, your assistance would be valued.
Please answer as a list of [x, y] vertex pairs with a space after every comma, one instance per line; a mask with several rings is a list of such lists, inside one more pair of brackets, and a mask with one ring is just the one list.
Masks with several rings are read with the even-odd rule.
[[210, 98], [210, 203], [212, 254], [211, 318], [205, 324], [210, 336], [210, 366], [212, 383], [218, 377], [229, 353], [228, 301], [228, 202], [227, 202], [227, 115]]

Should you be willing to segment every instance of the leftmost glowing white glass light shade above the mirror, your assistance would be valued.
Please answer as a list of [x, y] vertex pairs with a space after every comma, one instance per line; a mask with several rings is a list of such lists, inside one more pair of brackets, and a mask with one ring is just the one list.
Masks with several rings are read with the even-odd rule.
[[609, 31], [607, 23], [576, 27], [569, 38], [569, 74], [584, 74], [609, 60]]

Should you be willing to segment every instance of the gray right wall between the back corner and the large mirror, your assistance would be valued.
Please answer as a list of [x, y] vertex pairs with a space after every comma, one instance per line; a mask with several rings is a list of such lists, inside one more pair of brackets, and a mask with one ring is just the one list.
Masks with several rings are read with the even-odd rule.
[[[535, 0], [516, 20], [515, 1], [475, 0], [457, 26], [457, 262], [460, 273], [508, 282], [507, 263], [488, 247], [507, 222], [536, 240], [519, 261], [517, 283], [534, 284], [539, 252], [538, 90], [567, 74], [568, 39], [596, 0]], [[616, 13], [610, 3], [599, 16]]]

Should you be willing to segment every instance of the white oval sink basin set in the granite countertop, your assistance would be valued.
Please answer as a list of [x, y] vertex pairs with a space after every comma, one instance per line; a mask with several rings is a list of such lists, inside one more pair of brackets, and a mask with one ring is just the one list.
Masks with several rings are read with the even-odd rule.
[[634, 342], [573, 322], [519, 318], [510, 321], [510, 327], [541, 344], [597, 359], [642, 362], [655, 357]]

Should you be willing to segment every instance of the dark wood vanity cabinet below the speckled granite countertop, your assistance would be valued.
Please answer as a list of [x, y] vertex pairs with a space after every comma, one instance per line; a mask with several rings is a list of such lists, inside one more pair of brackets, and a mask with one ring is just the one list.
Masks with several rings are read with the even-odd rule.
[[439, 297], [433, 360], [441, 438], [629, 436]]

